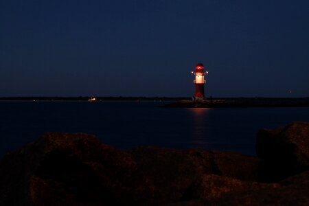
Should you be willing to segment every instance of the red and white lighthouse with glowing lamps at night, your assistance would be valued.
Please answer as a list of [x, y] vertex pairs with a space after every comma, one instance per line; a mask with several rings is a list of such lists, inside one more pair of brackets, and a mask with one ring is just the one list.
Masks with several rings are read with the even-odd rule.
[[194, 73], [195, 76], [193, 81], [195, 85], [194, 101], [203, 101], [205, 97], [204, 84], [206, 83], [204, 76], [208, 73], [208, 71], [204, 71], [204, 65], [202, 63], [198, 63], [195, 67], [195, 71], [192, 71], [192, 73]]

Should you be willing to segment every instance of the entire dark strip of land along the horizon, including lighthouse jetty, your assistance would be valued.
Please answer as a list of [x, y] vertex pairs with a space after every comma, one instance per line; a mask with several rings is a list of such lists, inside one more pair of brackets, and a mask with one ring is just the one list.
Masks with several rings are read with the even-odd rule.
[[[2, 97], [0, 101], [80, 101], [87, 102], [90, 96], [80, 97]], [[167, 102], [164, 107], [225, 108], [225, 107], [309, 107], [309, 98], [206, 98], [194, 102], [192, 98], [169, 97], [95, 97], [95, 102]]]

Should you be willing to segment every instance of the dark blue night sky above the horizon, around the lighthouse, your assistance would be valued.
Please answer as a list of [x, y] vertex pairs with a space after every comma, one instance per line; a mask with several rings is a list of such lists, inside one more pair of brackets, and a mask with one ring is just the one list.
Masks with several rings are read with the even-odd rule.
[[190, 97], [197, 62], [207, 96], [309, 96], [309, 1], [0, 1], [0, 96]]

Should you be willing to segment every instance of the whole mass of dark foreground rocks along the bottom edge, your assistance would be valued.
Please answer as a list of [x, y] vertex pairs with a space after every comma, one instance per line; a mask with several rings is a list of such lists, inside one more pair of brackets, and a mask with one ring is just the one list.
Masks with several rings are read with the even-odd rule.
[[0, 205], [308, 205], [309, 123], [259, 130], [258, 157], [45, 133], [0, 161]]

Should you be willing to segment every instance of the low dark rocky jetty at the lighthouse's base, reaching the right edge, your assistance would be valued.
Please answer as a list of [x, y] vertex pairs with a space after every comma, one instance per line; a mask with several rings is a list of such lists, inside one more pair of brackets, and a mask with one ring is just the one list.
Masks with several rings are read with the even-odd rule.
[[224, 107], [309, 107], [309, 98], [208, 98], [204, 101], [179, 100], [165, 107], [224, 108]]

